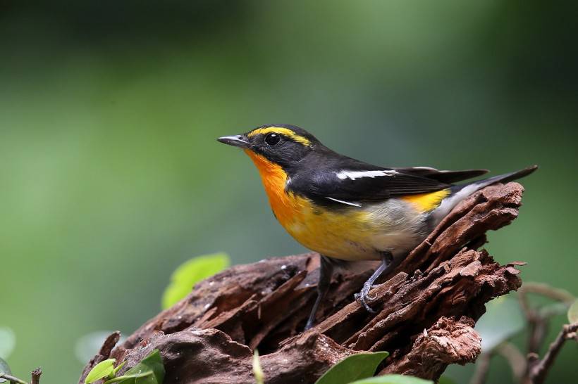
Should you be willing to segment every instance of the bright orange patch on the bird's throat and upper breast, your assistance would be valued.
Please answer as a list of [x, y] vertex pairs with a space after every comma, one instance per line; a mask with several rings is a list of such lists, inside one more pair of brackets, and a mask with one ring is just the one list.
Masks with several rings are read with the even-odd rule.
[[293, 193], [285, 192], [288, 176], [281, 165], [275, 164], [250, 150], [245, 149], [245, 153], [249, 155], [259, 170], [271, 209], [278, 221], [283, 226], [294, 222], [296, 215], [300, 215], [300, 200], [302, 199], [296, 198]]

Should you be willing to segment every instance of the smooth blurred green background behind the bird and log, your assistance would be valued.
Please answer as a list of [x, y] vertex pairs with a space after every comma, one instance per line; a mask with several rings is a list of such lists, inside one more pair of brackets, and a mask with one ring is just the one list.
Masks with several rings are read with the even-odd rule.
[[[570, 4], [570, 3], [569, 3]], [[159, 312], [171, 271], [305, 251], [215, 141], [312, 131], [382, 165], [531, 164], [491, 233], [526, 281], [578, 293], [576, 20], [557, 2], [0, 0], [0, 326], [19, 376], [73, 383], [87, 333]], [[564, 321], [560, 316], [550, 339]], [[575, 373], [567, 345], [548, 382]], [[452, 368], [467, 382], [473, 366]], [[508, 383], [496, 359], [489, 382]]]

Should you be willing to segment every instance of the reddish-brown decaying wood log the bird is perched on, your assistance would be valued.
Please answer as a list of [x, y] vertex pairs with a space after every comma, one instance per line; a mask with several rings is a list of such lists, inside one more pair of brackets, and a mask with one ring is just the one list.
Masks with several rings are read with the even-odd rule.
[[[275, 257], [238, 265], [198, 283], [185, 299], [147, 321], [102, 359], [134, 366], [161, 351], [165, 383], [254, 383], [257, 348], [266, 383], [314, 383], [331, 365], [359, 351], [391, 352], [380, 373], [436, 379], [448, 364], [472, 362], [481, 340], [474, 324], [484, 304], [516, 290], [515, 267], [486, 251], [485, 233], [517, 217], [523, 188], [484, 188], [460, 203], [431, 235], [371, 290], [369, 314], [355, 300], [371, 271], [342, 271], [319, 310], [319, 324], [302, 333], [312, 307], [319, 257]], [[110, 343], [110, 340], [109, 340]]]

